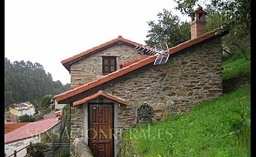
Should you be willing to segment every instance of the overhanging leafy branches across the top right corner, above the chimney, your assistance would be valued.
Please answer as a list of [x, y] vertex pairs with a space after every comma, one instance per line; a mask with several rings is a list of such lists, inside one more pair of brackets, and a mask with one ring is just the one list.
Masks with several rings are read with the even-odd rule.
[[182, 14], [192, 15], [194, 7], [200, 4], [207, 4], [211, 9], [220, 12], [221, 25], [224, 29], [230, 30], [237, 25], [244, 25], [244, 29], [251, 32], [251, 0], [175, 0], [177, 7]]

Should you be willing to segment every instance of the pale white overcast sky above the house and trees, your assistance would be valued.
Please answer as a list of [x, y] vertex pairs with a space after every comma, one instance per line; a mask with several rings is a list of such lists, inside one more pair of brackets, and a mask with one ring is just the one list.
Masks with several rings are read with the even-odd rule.
[[40, 63], [53, 81], [67, 84], [70, 73], [62, 60], [119, 35], [145, 44], [147, 22], [158, 22], [163, 9], [189, 22], [175, 5], [173, 0], [5, 0], [5, 58]]

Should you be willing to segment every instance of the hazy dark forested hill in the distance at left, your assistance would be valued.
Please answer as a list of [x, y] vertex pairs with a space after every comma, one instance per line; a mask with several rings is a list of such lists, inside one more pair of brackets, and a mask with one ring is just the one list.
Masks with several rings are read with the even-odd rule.
[[23, 60], [11, 63], [5, 58], [5, 109], [25, 101], [38, 106], [42, 97], [67, 90], [70, 90], [70, 84], [64, 86], [59, 80], [54, 82], [51, 73], [45, 73], [43, 65]]

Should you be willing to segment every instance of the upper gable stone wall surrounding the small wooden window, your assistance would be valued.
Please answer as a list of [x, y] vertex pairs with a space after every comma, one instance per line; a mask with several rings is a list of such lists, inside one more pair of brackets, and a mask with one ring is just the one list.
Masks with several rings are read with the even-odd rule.
[[87, 82], [98, 79], [102, 75], [102, 56], [117, 56], [117, 70], [120, 69], [119, 65], [127, 61], [140, 59], [143, 56], [148, 56], [140, 50], [135, 50], [126, 44], [114, 44], [105, 50], [101, 50], [96, 54], [77, 61], [70, 68], [71, 75], [71, 88], [81, 86]]

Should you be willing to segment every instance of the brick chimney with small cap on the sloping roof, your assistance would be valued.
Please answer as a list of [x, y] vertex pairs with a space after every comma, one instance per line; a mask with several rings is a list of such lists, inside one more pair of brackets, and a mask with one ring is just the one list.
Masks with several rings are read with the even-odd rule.
[[191, 39], [199, 37], [205, 34], [205, 10], [200, 6], [196, 10], [194, 10], [194, 14], [191, 16]]

